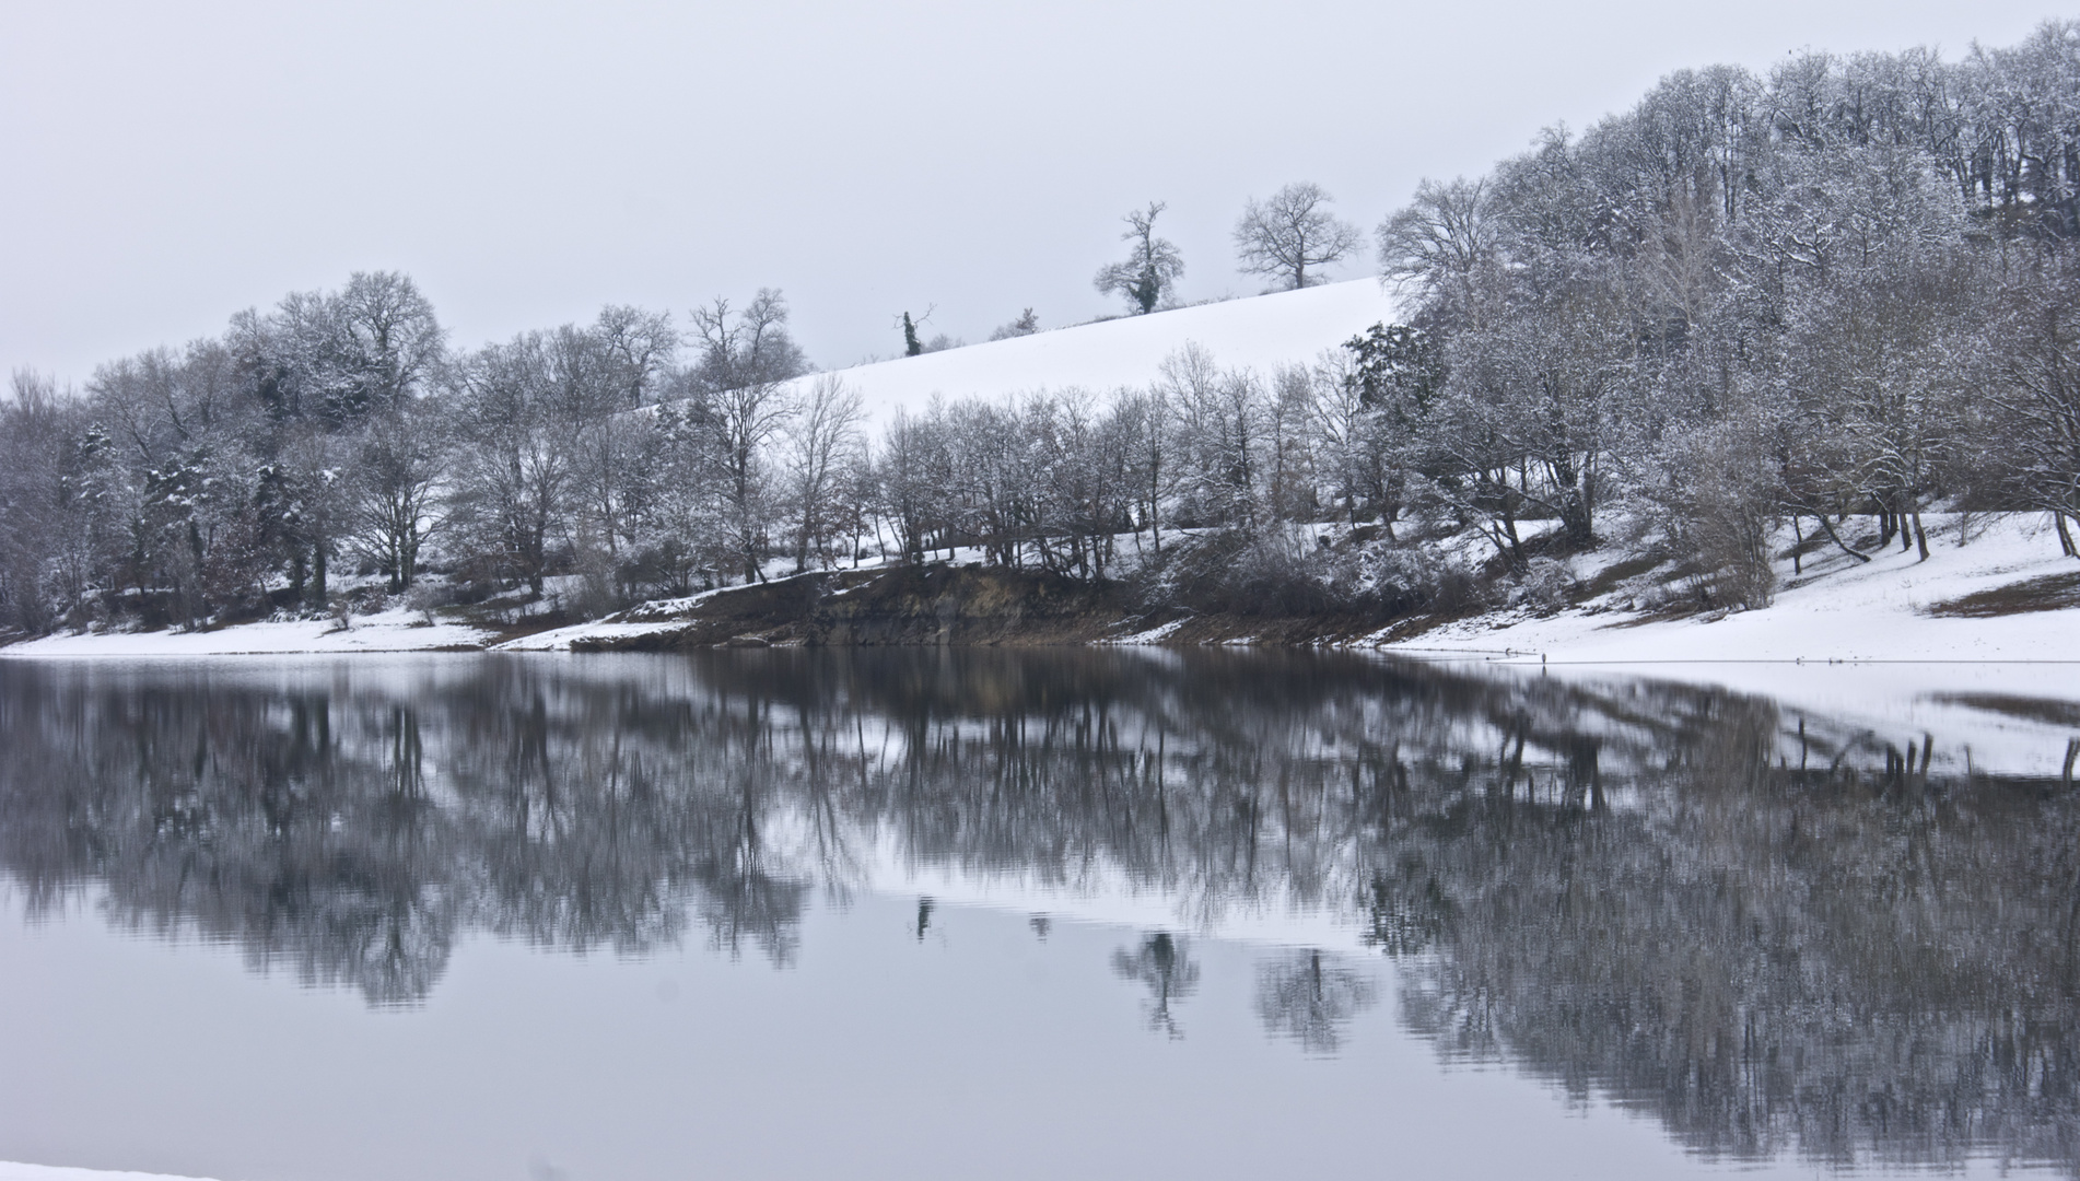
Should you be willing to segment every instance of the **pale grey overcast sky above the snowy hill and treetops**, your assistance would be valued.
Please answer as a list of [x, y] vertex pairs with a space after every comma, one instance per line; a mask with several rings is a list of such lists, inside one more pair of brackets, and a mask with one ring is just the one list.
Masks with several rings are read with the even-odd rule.
[[903, 310], [1113, 310], [1090, 277], [1148, 200], [1181, 297], [1252, 293], [1229, 227], [1288, 181], [1371, 229], [1668, 71], [1957, 58], [2047, 2], [0, 0], [0, 366], [85, 380], [376, 268], [464, 345], [780, 287], [844, 366]]

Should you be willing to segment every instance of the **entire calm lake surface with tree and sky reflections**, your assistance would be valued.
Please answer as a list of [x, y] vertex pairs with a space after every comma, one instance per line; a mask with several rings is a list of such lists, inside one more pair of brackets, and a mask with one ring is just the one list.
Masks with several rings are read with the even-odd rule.
[[0, 661], [0, 1160], [2074, 1175], [2076, 838], [1654, 682]]

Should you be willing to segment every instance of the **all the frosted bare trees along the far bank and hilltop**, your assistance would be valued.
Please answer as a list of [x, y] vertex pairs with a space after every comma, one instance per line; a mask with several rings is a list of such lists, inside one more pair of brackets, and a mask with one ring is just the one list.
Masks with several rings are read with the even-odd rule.
[[[1310, 195], [1238, 227], [1285, 285], [1358, 241]], [[1142, 314], [1181, 270], [1156, 212], [1098, 277]], [[1681, 71], [1425, 181], [1373, 245], [1406, 322], [1342, 349], [1250, 372], [1188, 347], [1142, 387], [953, 397], [876, 437], [778, 291], [472, 351], [408, 277], [354, 274], [79, 391], [15, 374], [0, 634], [322, 613], [349, 586], [424, 609], [553, 586], [584, 618], [961, 549], [1387, 618], [1627, 545], [1758, 607], [1787, 528], [1926, 557], [1934, 509], [2049, 514], [2080, 557], [2076, 21], [1959, 60]]]

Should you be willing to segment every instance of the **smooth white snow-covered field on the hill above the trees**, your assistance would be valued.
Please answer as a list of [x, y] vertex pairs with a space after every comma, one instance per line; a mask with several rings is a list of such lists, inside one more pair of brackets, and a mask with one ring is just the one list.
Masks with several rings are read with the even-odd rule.
[[1146, 385], [1163, 358], [1188, 343], [1202, 345], [1225, 368], [1269, 372], [1281, 364], [1312, 362], [1323, 349], [1394, 318], [1394, 295], [1377, 279], [1352, 279], [838, 372], [880, 422], [894, 410], [921, 410], [934, 395], [1003, 397], [1034, 389], [1107, 393]]

